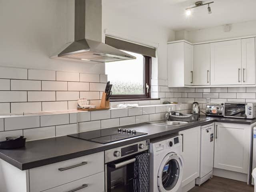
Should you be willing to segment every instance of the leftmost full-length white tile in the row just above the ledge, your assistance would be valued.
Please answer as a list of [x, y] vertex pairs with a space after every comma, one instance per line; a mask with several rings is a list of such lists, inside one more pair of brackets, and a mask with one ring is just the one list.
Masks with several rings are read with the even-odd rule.
[[15, 114], [38, 113], [42, 111], [41, 102], [11, 103], [11, 112]]

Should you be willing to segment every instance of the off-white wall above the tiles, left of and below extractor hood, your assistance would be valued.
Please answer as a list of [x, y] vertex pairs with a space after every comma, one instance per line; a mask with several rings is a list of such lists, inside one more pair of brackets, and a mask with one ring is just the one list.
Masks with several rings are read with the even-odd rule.
[[[67, 0], [0, 0], [0, 66], [101, 74], [104, 64], [50, 59], [72, 40]], [[70, 30], [71, 29], [71, 30]]]

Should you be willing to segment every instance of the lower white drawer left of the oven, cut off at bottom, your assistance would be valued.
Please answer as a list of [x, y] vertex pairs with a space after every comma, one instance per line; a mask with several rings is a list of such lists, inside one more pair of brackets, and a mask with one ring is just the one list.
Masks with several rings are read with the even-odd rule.
[[82, 178], [44, 192], [104, 192], [104, 172]]

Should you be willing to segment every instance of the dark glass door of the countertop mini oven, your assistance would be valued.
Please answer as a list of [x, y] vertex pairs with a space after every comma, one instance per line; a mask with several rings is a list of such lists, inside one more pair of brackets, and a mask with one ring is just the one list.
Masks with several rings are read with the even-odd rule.
[[224, 103], [224, 117], [246, 118], [246, 103]]

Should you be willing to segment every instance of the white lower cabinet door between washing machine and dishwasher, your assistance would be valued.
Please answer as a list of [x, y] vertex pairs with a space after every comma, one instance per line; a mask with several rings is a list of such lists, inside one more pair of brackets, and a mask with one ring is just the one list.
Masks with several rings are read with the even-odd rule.
[[200, 167], [200, 126], [179, 132], [183, 136], [182, 157], [184, 172], [182, 187], [199, 176]]

